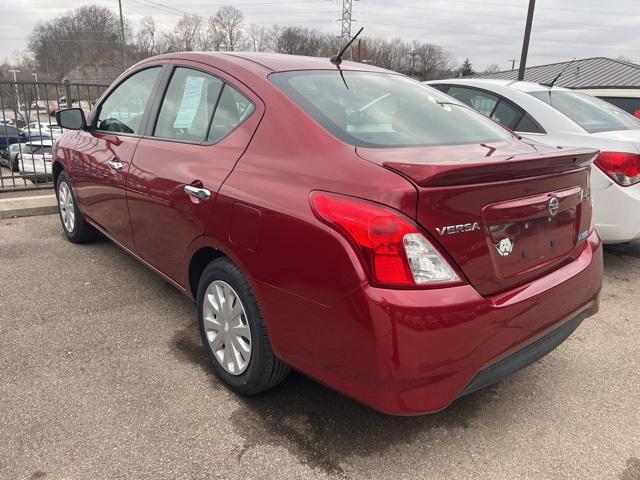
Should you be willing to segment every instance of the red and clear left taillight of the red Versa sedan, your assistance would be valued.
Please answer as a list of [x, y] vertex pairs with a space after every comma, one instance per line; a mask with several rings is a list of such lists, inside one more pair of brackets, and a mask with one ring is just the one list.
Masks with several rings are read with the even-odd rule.
[[372, 281], [391, 287], [460, 283], [460, 277], [411, 220], [374, 203], [322, 192], [311, 206], [324, 222], [349, 240]]

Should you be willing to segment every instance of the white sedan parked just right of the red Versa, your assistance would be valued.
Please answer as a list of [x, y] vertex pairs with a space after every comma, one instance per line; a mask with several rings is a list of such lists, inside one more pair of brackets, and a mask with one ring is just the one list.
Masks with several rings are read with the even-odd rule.
[[512, 80], [426, 82], [530, 140], [600, 150], [591, 171], [605, 243], [640, 241], [640, 120], [574, 90]]

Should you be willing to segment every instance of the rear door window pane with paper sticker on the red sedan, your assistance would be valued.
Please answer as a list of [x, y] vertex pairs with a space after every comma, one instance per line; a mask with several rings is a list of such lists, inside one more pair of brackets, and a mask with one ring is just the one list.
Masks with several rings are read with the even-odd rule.
[[203, 142], [224, 83], [190, 68], [176, 68], [162, 100], [153, 135]]

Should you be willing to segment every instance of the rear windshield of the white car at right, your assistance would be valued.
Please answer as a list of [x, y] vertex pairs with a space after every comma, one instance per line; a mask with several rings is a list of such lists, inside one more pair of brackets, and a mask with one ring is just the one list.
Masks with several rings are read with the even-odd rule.
[[589, 133], [640, 128], [640, 121], [610, 103], [586, 93], [552, 91], [531, 95], [565, 114]]

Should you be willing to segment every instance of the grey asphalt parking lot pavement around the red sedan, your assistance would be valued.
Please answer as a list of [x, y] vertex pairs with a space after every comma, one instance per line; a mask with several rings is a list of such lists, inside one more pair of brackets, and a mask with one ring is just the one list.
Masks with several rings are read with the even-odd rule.
[[0, 220], [0, 478], [640, 479], [640, 247], [542, 361], [439, 414], [378, 414], [299, 374], [240, 398], [195, 307], [57, 216]]

